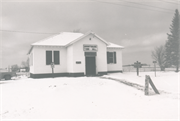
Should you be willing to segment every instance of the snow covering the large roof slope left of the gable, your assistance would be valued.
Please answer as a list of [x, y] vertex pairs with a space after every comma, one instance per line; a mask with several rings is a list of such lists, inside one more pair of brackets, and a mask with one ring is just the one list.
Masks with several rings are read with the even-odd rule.
[[65, 46], [81, 36], [83, 36], [82, 33], [62, 32], [53, 37], [35, 42], [32, 45]]

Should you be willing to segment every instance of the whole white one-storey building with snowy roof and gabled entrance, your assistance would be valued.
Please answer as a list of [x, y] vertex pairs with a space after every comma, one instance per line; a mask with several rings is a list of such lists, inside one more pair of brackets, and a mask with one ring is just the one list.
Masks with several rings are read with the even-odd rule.
[[93, 32], [62, 32], [31, 44], [30, 77], [93, 76], [122, 72], [122, 49]]

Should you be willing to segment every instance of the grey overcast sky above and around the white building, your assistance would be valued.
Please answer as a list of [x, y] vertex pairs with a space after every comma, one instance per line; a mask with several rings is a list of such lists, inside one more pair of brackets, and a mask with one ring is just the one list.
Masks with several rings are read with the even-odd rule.
[[178, 0], [0, 1], [3, 67], [26, 61], [32, 43], [76, 29], [82, 33], [91, 30], [124, 46], [123, 65], [135, 61], [152, 64], [151, 51], [165, 44], [178, 9]]

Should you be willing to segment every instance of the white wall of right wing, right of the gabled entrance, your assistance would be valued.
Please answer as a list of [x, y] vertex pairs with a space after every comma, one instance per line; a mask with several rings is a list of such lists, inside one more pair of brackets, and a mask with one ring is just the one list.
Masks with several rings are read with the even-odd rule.
[[122, 49], [108, 48], [108, 52], [116, 52], [116, 63], [107, 64], [108, 71], [122, 71]]

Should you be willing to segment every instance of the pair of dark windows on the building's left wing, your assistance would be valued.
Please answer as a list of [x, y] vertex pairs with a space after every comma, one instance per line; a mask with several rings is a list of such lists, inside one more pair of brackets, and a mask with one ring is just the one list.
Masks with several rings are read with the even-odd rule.
[[46, 51], [46, 65], [50, 65], [54, 62], [55, 65], [59, 65], [59, 51]]

